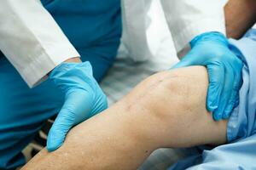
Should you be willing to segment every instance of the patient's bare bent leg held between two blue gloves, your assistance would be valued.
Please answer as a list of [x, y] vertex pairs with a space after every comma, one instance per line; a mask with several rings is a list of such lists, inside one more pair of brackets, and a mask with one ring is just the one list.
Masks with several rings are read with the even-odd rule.
[[224, 144], [226, 121], [206, 110], [207, 70], [160, 72], [100, 115], [74, 127], [53, 153], [42, 150], [24, 169], [137, 169], [161, 147]]

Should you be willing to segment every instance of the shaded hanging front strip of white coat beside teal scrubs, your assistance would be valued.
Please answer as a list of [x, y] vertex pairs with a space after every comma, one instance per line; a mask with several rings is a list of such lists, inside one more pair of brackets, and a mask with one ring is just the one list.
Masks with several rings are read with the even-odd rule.
[[151, 56], [147, 39], [147, 12], [152, 0], [121, 0], [123, 35], [122, 43], [134, 61]]

